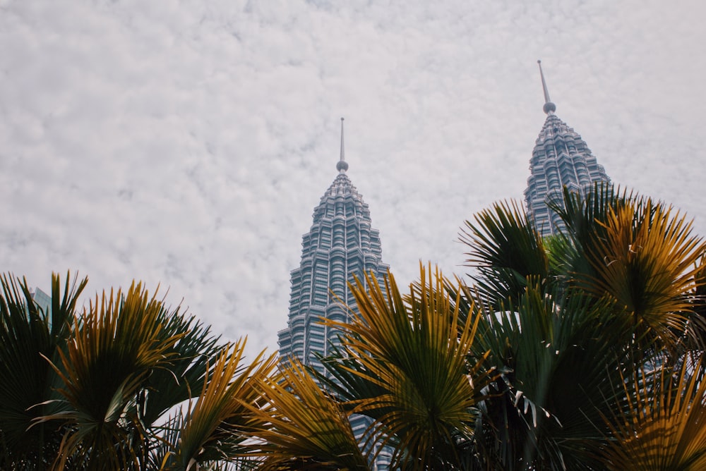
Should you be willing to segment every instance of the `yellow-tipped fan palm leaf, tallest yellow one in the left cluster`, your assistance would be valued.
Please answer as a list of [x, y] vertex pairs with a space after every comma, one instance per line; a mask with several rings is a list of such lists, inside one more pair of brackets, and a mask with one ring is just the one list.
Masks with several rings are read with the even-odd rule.
[[[147, 430], [136, 411], [136, 396], [150, 371], [167, 367], [167, 352], [179, 336], [160, 338], [162, 306], [133, 283], [105, 293], [75, 319], [66, 352], [59, 350], [58, 393], [63, 410], [35, 424], [56, 421], [66, 428], [54, 463], [126, 469], [144, 459]], [[49, 360], [47, 358], [47, 360]]]

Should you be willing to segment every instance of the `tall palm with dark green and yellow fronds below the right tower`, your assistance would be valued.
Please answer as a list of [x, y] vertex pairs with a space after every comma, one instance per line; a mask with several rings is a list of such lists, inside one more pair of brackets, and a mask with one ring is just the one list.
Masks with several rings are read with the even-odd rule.
[[465, 304], [484, 311], [474, 350], [501, 373], [481, 404], [485, 469], [604, 469], [623, 379], [672, 374], [702, 345], [705, 246], [683, 216], [598, 185], [553, 209], [566, 224], [554, 238], [507, 203], [462, 233], [476, 270]]

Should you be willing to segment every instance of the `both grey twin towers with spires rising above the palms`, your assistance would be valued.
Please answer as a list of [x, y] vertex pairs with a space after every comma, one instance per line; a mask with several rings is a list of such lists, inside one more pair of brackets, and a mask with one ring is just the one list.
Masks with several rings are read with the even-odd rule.
[[[609, 182], [578, 133], [555, 114], [549, 99], [542, 64], [546, 121], [539, 131], [530, 160], [525, 205], [530, 221], [542, 236], [562, 230], [562, 222], [547, 202], [561, 201], [563, 188], [584, 192], [597, 182]], [[292, 271], [287, 327], [279, 332], [280, 356], [297, 357], [321, 370], [316, 354], [327, 355], [337, 332], [321, 324], [322, 318], [345, 321], [355, 309], [347, 283], [373, 272], [381, 278], [388, 269], [382, 261], [380, 234], [371, 226], [370, 210], [347, 176], [341, 118], [338, 175], [314, 209], [313, 224], [302, 238], [301, 264]]]

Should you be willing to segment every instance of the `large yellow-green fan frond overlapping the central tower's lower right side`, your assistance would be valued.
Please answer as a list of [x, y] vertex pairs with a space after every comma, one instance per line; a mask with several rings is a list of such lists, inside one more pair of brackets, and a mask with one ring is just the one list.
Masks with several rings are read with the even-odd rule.
[[360, 314], [349, 324], [328, 323], [345, 331], [343, 345], [363, 367], [349, 371], [383, 391], [357, 403], [357, 412], [378, 419], [370, 436], [394, 438], [383, 444], [395, 444], [397, 464], [413, 457], [414, 467], [450, 466], [472, 441], [477, 403], [493, 374], [482, 357], [468, 362], [479, 318], [462, 322], [441, 272], [420, 272], [406, 297], [391, 274], [384, 292], [371, 274], [357, 279], [351, 290]]

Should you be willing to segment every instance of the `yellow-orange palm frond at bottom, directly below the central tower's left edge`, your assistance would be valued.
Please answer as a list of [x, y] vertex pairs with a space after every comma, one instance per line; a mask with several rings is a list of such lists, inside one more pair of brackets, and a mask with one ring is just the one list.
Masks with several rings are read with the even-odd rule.
[[267, 427], [253, 432], [252, 453], [265, 458], [261, 470], [369, 470], [347, 412], [299, 362], [259, 387], [265, 403], [252, 412]]

